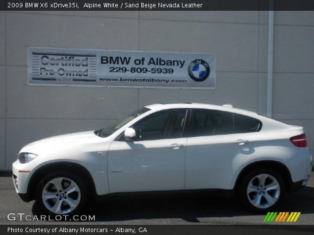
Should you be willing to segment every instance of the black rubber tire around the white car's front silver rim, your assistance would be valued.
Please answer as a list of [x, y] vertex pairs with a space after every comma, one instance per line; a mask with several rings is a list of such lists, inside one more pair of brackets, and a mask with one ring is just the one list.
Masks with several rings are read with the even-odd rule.
[[[77, 200], [78, 201], [78, 205], [76, 206], [75, 209], [71, 210], [71, 209], [65, 209], [63, 211], [67, 211], [67, 210], [71, 210], [69, 212], [58, 212], [58, 213], [54, 213], [52, 211], [50, 211], [44, 204], [43, 199], [42, 199], [42, 192], [45, 188], [45, 186], [53, 179], [56, 178], [64, 178], [64, 180], [62, 180], [62, 184], [65, 185], [66, 183], [69, 184], [67, 181], [67, 179], [71, 180], [72, 182], [74, 182], [78, 188], [79, 188], [79, 193], [78, 192], [74, 192], [77, 193]], [[47, 187], [47, 186], [46, 186]], [[52, 187], [52, 190], [54, 191], [54, 188]], [[64, 187], [64, 190], [66, 190], [66, 185]], [[58, 194], [58, 191], [55, 192], [56, 195]], [[65, 191], [65, 193], [67, 193]], [[62, 194], [63, 195], [63, 194]], [[70, 196], [71, 195], [71, 196]], [[68, 196], [69, 198], [71, 198], [73, 196], [72, 194], [65, 194], [65, 196], [63, 198], [61, 198], [61, 200], [66, 200], [66, 196]], [[58, 200], [60, 199], [61, 194], [59, 195], [59, 198], [57, 199], [52, 199], [52, 200]], [[44, 178], [38, 183], [37, 188], [36, 188], [36, 194], [35, 194], [35, 200], [36, 200], [36, 204], [37, 207], [39, 209], [39, 213], [41, 214], [45, 214], [45, 215], [52, 215], [55, 216], [57, 214], [60, 215], [68, 215], [69, 217], [75, 215], [75, 214], [79, 214], [80, 211], [83, 210], [86, 201], [87, 201], [87, 197], [88, 197], [88, 191], [87, 191], [87, 187], [86, 187], [86, 183], [75, 173], [72, 172], [67, 172], [67, 171], [56, 171], [56, 172], [52, 172], [47, 174], [46, 176], [44, 176]], [[50, 200], [50, 199], [49, 199]], [[60, 201], [61, 201], [60, 200]], [[50, 202], [50, 201], [49, 201]], [[46, 205], [47, 205], [47, 201], [46, 201]], [[53, 201], [52, 201], [52, 205], [53, 205]], [[62, 204], [63, 206], [67, 206], [69, 207], [69, 204], [67, 205], [66, 202], [64, 202]], [[62, 206], [62, 207], [63, 207]], [[66, 207], [65, 207], [66, 208]]]

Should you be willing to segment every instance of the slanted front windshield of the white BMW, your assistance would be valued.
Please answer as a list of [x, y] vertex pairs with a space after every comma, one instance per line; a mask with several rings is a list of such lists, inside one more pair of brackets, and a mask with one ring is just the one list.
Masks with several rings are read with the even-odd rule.
[[94, 133], [97, 136], [100, 137], [107, 137], [110, 136], [111, 134], [113, 134], [116, 130], [120, 129], [121, 127], [123, 127], [125, 124], [127, 124], [129, 121], [133, 120], [134, 118], [146, 113], [147, 111], [149, 111], [150, 109], [146, 108], [146, 107], [142, 107], [139, 110], [136, 110], [135, 112], [127, 115], [124, 118], [121, 118], [119, 120], [114, 121], [113, 123], [106, 125], [104, 128], [100, 129], [100, 130], [96, 130]]

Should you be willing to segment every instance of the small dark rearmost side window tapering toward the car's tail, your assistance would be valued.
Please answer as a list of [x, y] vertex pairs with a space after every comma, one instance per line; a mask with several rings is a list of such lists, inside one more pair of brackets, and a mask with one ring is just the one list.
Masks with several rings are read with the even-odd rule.
[[257, 132], [262, 128], [262, 122], [256, 118], [234, 114], [235, 133]]

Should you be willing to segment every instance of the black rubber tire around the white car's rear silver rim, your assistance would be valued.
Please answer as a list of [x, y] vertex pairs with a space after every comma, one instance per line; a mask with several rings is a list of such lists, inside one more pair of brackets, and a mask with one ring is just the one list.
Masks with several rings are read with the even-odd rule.
[[[252, 193], [249, 193], [249, 195], [247, 194], [247, 189], [248, 189], [249, 183], [253, 179], [255, 179], [254, 182], [255, 181], [258, 182], [259, 180], [256, 177], [258, 175], [261, 175], [261, 174], [268, 174], [268, 175], [270, 175], [271, 177], [274, 177], [277, 180], [277, 182], [279, 183], [279, 187], [280, 187], [279, 196], [278, 196], [278, 190], [269, 190], [267, 192], [265, 192], [265, 191], [260, 192], [261, 188], [264, 188], [264, 187], [258, 187], [259, 191], [257, 190], [256, 193], [254, 191]], [[271, 181], [271, 177], [267, 178], [268, 183]], [[267, 188], [267, 186], [265, 188]], [[266, 193], [269, 193], [269, 194], [266, 194]], [[277, 197], [277, 201], [273, 205], [268, 206], [269, 204], [268, 204], [268, 201], [267, 201], [265, 196], [271, 195], [272, 193], [274, 194], [273, 195], [274, 197]], [[246, 174], [244, 176], [244, 178], [242, 179], [242, 182], [241, 182], [241, 184], [239, 186], [239, 196], [240, 196], [241, 202], [243, 203], [243, 205], [246, 207], [246, 209], [248, 211], [252, 211], [252, 212], [255, 212], [255, 213], [265, 213], [265, 212], [268, 212], [268, 211], [273, 211], [274, 208], [278, 207], [278, 205], [282, 202], [282, 200], [284, 199], [285, 193], [286, 193], [286, 189], [285, 189], [285, 182], [283, 180], [283, 177], [279, 173], [274, 171], [273, 169], [268, 169], [268, 168], [258, 168], [258, 169], [254, 169], [254, 170], [250, 171], [248, 174]], [[265, 207], [265, 208], [259, 208], [257, 206], [254, 206], [250, 202], [249, 197], [253, 201], [256, 198], [256, 197], [254, 197], [255, 195], [256, 196], [260, 195], [261, 203], [259, 203], [258, 205], [260, 207]]]

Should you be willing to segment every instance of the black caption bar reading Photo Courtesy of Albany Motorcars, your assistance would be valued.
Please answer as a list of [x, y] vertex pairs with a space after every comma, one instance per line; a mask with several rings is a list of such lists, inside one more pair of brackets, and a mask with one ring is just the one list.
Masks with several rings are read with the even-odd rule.
[[[9, 228], [9, 229], [8, 229]], [[12, 232], [12, 229], [20, 229]], [[26, 228], [42, 229], [42, 232], [27, 233]], [[62, 228], [62, 231], [60, 229]], [[65, 229], [78, 229], [67, 231]], [[83, 232], [81, 231], [83, 228]], [[147, 232], [143, 232], [144, 229]], [[21, 229], [23, 230], [21, 232]], [[50, 232], [44, 232], [50, 229]], [[106, 229], [107, 232], [95, 232], [95, 229]], [[117, 231], [118, 229], [118, 231]], [[135, 235], [313, 235], [313, 225], [0, 225], [1, 235], [131, 235], [122, 229], [133, 229]], [[10, 230], [10, 231], [9, 231]], [[56, 231], [56, 232], [53, 232]], [[89, 232], [93, 231], [93, 232]], [[140, 232], [142, 231], [142, 232]]]

